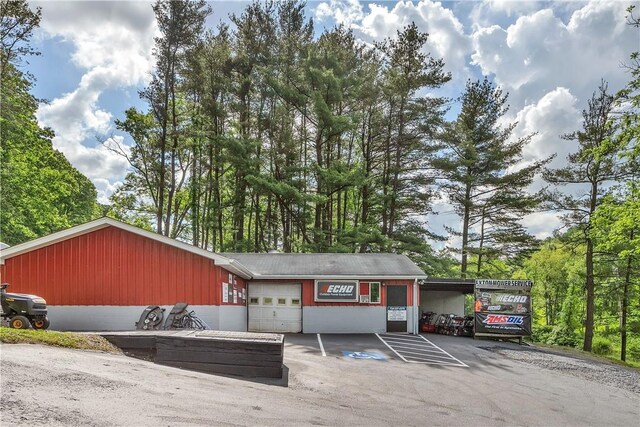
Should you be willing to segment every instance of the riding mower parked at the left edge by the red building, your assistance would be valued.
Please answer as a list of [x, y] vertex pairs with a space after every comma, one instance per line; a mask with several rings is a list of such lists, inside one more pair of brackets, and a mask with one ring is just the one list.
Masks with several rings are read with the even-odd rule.
[[47, 329], [47, 302], [36, 295], [9, 293], [8, 283], [0, 285], [0, 305], [2, 318], [7, 319], [9, 326], [15, 329]]

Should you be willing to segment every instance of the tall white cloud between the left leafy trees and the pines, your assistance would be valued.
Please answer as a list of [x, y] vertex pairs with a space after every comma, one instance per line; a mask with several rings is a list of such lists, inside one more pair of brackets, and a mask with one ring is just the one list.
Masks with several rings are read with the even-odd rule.
[[146, 2], [36, 5], [42, 7], [41, 37], [71, 43], [70, 61], [84, 72], [75, 90], [40, 105], [38, 120], [55, 131], [54, 147], [93, 181], [99, 200], [106, 202], [128, 164], [96, 141], [112, 130], [113, 119], [99, 100], [106, 90], [149, 81], [156, 32], [153, 10]]

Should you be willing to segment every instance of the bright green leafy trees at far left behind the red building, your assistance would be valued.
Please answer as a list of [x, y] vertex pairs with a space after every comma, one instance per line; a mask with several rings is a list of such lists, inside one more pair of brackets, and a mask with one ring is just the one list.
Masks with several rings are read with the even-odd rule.
[[0, 18], [3, 34], [15, 32], [19, 39], [7, 47], [3, 38], [0, 73], [0, 240], [14, 245], [86, 222], [99, 208], [93, 184], [53, 148], [53, 132], [39, 126], [32, 81], [15, 65], [31, 52], [28, 35], [39, 11], [29, 11], [25, 2], [3, 2]]

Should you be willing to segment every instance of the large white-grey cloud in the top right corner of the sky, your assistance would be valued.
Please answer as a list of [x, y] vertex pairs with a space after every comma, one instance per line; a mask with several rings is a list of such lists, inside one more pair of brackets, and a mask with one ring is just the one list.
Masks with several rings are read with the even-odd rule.
[[628, 79], [620, 63], [638, 49], [639, 40], [625, 23], [626, 6], [593, 1], [573, 11], [567, 23], [553, 9], [542, 9], [506, 28], [477, 27], [472, 62], [511, 91], [516, 108], [555, 87], [569, 88], [585, 105], [601, 78], [613, 90]]

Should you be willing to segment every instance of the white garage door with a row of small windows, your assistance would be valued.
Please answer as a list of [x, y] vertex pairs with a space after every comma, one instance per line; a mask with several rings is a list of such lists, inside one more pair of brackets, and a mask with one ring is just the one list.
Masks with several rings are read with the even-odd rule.
[[300, 285], [249, 283], [249, 331], [301, 332]]

